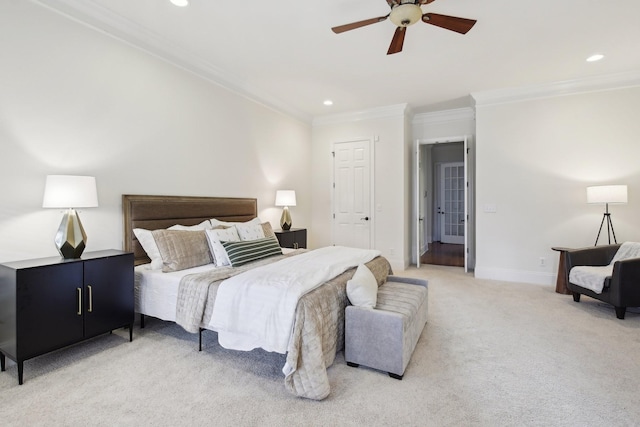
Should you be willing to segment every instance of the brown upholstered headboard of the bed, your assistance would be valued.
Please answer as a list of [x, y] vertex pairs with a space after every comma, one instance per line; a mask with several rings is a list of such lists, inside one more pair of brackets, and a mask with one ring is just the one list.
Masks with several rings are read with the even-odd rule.
[[122, 195], [124, 250], [133, 252], [135, 264], [149, 262], [133, 234], [134, 228], [157, 230], [175, 224], [195, 225], [206, 219], [249, 221], [258, 216], [256, 199], [235, 197]]

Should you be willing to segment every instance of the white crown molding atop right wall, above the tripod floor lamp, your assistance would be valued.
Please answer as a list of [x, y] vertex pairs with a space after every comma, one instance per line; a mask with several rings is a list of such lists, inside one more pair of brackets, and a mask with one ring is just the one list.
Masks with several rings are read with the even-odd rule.
[[473, 92], [476, 107], [586, 92], [640, 86], [640, 71], [564, 80], [555, 83]]

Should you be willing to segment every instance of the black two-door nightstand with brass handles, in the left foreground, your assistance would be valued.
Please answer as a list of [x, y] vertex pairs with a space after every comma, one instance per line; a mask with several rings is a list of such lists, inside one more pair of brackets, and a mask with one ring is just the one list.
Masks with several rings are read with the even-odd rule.
[[128, 327], [133, 339], [133, 253], [0, 264], [0, 362], [24, 361]]

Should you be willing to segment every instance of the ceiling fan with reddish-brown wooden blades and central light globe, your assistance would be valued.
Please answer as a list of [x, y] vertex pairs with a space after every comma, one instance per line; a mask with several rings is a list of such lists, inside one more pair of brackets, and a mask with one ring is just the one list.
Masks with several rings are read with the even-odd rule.
[[423, 4], [433, 3], [434, 1], [435, 0], [387, 0], [387, 3], [391, 8], [391, 12], [389, 14], [378, 18], [352, 22], [351, 24], [339, 25], [337, 27], [333, 27], [331, 30], [336, 34], [340, 34], [366, 25], [386, 21], [386, 19], [389, 18], [391, 19], [391, 22], [398, 27], [396, 28], [396, 32], [391, 40], [391, 45], [387, 51], [387, 55], [391, 55], [402, 51], [407, 27], [420, 20], [425, 24], [435, 25], [460, 34], [467, 34], [467, 32], [475, 25], [475, 19], [458, 18], [456, 16], [440, 15], [437, 13], [423, 14], [420, 6]]

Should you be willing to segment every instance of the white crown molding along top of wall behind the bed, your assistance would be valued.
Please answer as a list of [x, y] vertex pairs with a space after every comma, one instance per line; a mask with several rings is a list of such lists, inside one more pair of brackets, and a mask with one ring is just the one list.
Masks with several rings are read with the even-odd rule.
[[130, 46], [141, 49], [174, 66], [187, 70], [249, 100], [280, 113], [310, 123], [311, 116], [292, 108], [273, 95], [238, 79], [237, 76], [208, 63], [201, 57], [179, 47], [160, 34], [100, 6], [92, 0], [32, 0], [88, 28], [100, 31]]

